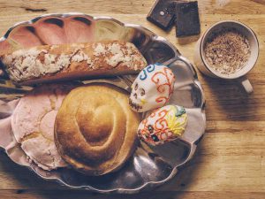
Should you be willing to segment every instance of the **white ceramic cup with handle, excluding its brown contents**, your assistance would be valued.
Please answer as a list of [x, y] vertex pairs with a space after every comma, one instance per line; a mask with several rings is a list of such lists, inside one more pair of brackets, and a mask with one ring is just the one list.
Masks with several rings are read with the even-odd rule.
[[[206, 62], [204, 55], [204, 46], [208, 41], [209, 36], [216, 31], [220, 31], [224, 28], [233, 28], [236, 29], [240, 34], [246, 36], [246, 39], [250, 44], [250, 57], [246, 62], [246, 65], [241, 68], [236, 73], [231, 73], [229, 75], [218, 73]], [[259, 42], [257, 36], [254, 34], [254, 31], [249, 27], [246, 27], [245, 24], [240, 23], [239, 21], [234, 20], [224, 20], [216, 23], [212, 27], [209, 27], [208, 30], [201, 36], [200, 40], [196, 44], [195, 53], [194, 53], [194, 64], [199, 68], [201, 73], [204, 73], [213, 78], [221, 78], [225, 80], [237, 80], [243, 88], [245, 88], [246, 93], [251, 94], [253, 92], [253, 87], [249, 80], [246, 79], [246, 73], [248, 73], [255, 65], [259, 57]]]

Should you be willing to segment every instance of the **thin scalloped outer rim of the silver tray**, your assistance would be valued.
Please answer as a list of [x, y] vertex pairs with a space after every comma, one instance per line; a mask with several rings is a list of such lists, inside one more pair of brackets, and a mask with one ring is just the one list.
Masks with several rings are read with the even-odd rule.
[[[21, 25], [34, 24], [34, 22], [38, 21], [39, 19], [43, 19], [43, 18], [46, 18], [46, 17], [67, 18], [67, 17], [72, 17], [72, 16], [85, 16], [85, 17], [90, 18], [90, 19], [93, 19], [93, 20], [108, 19], [108, 20], [111, 20], [111, 21], [116, 22], [117, 24], [119, 24], [122, 27], [133, 27], [133, 28], [137, 28], [137, 29], [143, 30], [144, 32], [148, 33], [149, 36], [154, 41], [163, 42], [166, 45], [168, 45], [170, 47], [170, 49], [174, 51], [175, 57], [170, 58], [169, 60], [167, 60], [163, 64], [164, 65], [170, 65], [170, 64], [172, 64], [175, 61], [181, 61], [181, 62], [184, 62], [186, 65], [190, 66], [190, 70], [193, 73], [193, 83], [195, 85], [197, 85], [197, 87], [200, 89], [200, 92], [201, 92], [201, 105], [200, 105], [200, 107], [201, 107], [201, 116], [202, 116], [202, 118], [204, 120], [204, 126], [202, 127], [203, 128], [203, 133], [204, 133], [204, 130], [205, 130], [205, 127], [206, 127], [206, 125], [205, 125], [206, 124], [206, 118], [205, 118], [205, 97], [203, 95], [202, 88], [201, 88], [201, 83], [198, 80], [197, 73], [196, 73], [196, 71], [195, 71], [195, 69], [193, 67], [193, 64], [188, 59], [186, 59], [186, 57], [183, 57], [178, 52], [178, 50], [176, 49], [176, 47], [174, 45], [172, 45], [170, 42], [168, 42], [165, 38], [154, 34], [153, 32], [151, 32], [150, 30], [148, 30], [145, 27], [141, 27], [139, 25], [134, 25], [134, 24], [123, 23], [123, 22], [121, 22], [121, 21], [119, 21], [117, 19], [113, 19], [111, 17], [103, 17], [103, 16], [102, 17], [92, 17], [90, 15], [83, 14], [83, 13], [79, 13], [79, 12], [68, 12], [68, 13], [64, 13], [64, 14], [52, 13], [52, 14], [45, 14], [45, 15], [42, 15], [40, 17], [36, 17], [34, 19], [27, 20], [27, 21], [23, 21], [23, 22], [19, 22], [19, 23], [15, 24], [13, 27], [9, 28], [9, 30], [6, 32], [6, 34], [4, 34], [4, 36], [0, 39], [0, 42], [3, 42], [9, 36], [9, 34], [11, 33], [11, 31], [14, 28], [19, 27]], [[127, 78], [125, 78], [125, 79], [127, 79]], [[201, 137], [202, 137], [203, 133], [201, 134]], [[175, 176], [175, 174], [178, 172], [178, 167], [180, 167], [182, 165], [185, 165], [186, 162], [188, 162], [193, 157], [193, 154], [195, 152], [196, 146], [197, 146], [198, 142], [201, 140], [201, 137], [198, 138], [196, 141], [193, 141], [193, 142], [190, 142], [188, 140], [186, 141], [185, 139], [183, 139], [183, 142], [186, 142], [186, 143], [188, 143], [191, 146], [191, 149], [189, 151], [189, 155], [186, 158], [186, 161], [185, 162], [183, 162], [182, 164], [177, 165], [177, 166], [175, 166], [175, 167], [172, 168], [172, 171], [171, 171], [170, 175], [166, 179], [160, 180], [160, 181], [148, 181], [148, 182], [145, 182], [143, 185], [141, 185], [139, 188], [133, 188], [133, 189], [127, 189], [127, 188], [112, 188], [112, 189], [109, 189], [109, 190], [103, 190], [103, 189], [92, 188], [90, 186], [76, 186], [75, 187], [75, 186], [72, 186], [72, 185], [67, 184], [62, 179], [58, 179], [56, 177], [46, 177], [46, 176], [42, 176], [37, 171], [34, 171], [34, 168], [33, 167], [27, 166], [27, 168], [29, 168], [33, 172], [36, 172], [42, 179], [45, 179], [45, 180], [57, 180], [60, 184], [62, 184], [64, 186], [67, 186], [69, 188], [78, 188], [78, 189], [79, 188], [83, 188], [83, 189], [87, 189], [87, 190], [95, 191], [95, 192], [99, 192], [99, 193], [117, 192], [117, 193], [131, 193], [132, 194], [132, 193], [140, 192], [141, 189], [152, 188], [152, 187], [161, 185], [164, 182], [172, 179]], [[5, 151], [5, 152], [7, 153], [7, 151]]]

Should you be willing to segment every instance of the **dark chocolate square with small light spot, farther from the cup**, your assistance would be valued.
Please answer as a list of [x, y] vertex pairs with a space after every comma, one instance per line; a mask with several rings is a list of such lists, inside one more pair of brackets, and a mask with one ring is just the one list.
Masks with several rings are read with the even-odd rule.
[[174, 1], [156, 0], [148, 13], [148, 20], [163, 30], [168, 30], [174, 22]]

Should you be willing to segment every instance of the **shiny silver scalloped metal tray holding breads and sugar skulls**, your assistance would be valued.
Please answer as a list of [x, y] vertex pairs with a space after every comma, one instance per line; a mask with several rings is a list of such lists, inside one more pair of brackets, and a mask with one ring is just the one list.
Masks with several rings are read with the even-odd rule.
[[[196, 146], [206, 127], [201, 84], [197, 79], [193, 65], [181, 56], [178, 50], [163, 37], [145, 27], [124, 24], [109, 17], [91, 17], [82, 13], [49, 14], [21, 22], [11, 27], [0, 40], [0, 50], [30, 47], [40, 44], [62, 42], [95, 42], [101, 40], [124, 40], [133, 42], [148, 60], [169, 65], [176, 75], [175, 91], [170, 104], [186, 107], [188, 125], [185, 134], [175, 142], [159, 147], [149, 147], [141, 142], [125, 166], [117, 172], [100, 177], [85, 176], [74, 170], [61, 168], [44, 171], [27, 156], [15, 142], [11, 133], [10, 117], [21, 96], [28, 87], [19, 87], [11, 83], [2, 73], [0, 79], [0, 146], [12, 161], [27, 166], [42, 179], [57, 180], [69, 188], [82, 188], [101, 193], [136, 193], [143, 189], [162, 185], [172, 179], [178, 168], [185, 165], [195, 152]], [[104, 80], [85, 80], [90, 82], [108, 82], [130, 91], [135, 76], [125, 75]]]

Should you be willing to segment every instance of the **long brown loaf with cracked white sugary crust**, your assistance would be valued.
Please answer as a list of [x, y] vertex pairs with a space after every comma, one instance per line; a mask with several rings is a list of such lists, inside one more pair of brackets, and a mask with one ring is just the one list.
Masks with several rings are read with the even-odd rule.
[[147, 62], [131, 42], [43, 45], [1, 56], [11, 80], [20, 84], [137, 73]]

